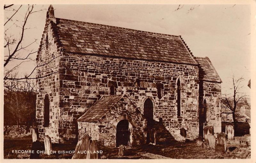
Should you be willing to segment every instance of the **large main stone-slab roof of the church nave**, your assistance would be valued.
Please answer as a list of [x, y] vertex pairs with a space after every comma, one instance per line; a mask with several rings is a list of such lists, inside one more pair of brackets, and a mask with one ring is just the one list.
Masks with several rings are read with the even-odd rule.
[[54, 28], [68, 53], [198, 65], [181, 36], [60, 18]]

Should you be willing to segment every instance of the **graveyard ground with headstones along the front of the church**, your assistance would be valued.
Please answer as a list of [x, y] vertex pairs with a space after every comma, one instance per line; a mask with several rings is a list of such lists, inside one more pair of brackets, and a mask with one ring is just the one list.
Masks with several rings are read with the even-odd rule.
[[[32, 130], [33, 131], [33, 130]], [[123, 146], [120, 147], [107, 147], [100, 146], [94, 141], [94, 149], [103, 151], [100, 155], [89, 156], [94, 159], [248, 159], [251, 157], [251, 143], [250, 135], [235, 136], [232, 134], [220, 133], [215, 138], [211, 131], [206, 131], [207, 134], [204, 138], [198, 137], [196, 140], [188, 140], [183, 142], [172, 141], [168, 144], [141, 144], [138, 146]], [[34, 133], [35, 135], [35, 133]], [[231, 136], [231, 137], [230, 137]], [[31, 158], [28, 153], [12, 153], [12, 150], [31, 150], [33, 139], [32, 135], [21, 138], [4, 138], [4, 158], [5, 159], [29, 159]], [[222, 138], [220, 138], [222, 137]], [[222, 142], [220, 141], [226, 139]], [[228, 139], [229, 138], [229, 139]], [[45, 148], [52, 151], [75, 151], [77, 149], [87, 148], [86, 143], [90, 144], [93, 141], [90, 138], [84, 137], [84, 141], [79, 141], [76, 144], [57, 144], [50, 143], [50, 138], [46, 136], [44, 142], [41, 140], [43, 151]], [[232, 139], [232, 140], [230, 140]], [[235, 139], [235, 140], [233, 140]], [[83, 140], [83, 139], [82, 139]], [[216, 140], [216, 141], [214, 141]], [[219, 142], [218, 142], [219, 141]], [[35, 141], [36, 142], [36, 141]], [[35, 142], [33, 144], [35, 144]], [[39, 141], [37, 141], [39, 142]], [[208, 142], [208, 143], [206, 143]], [[50, 144], [49, 144], [50, 143]], [[45, 144], [45, 145], [44, 145]], [[83, 146], [84, 144], [84, 146]], [[93, 143], [92, 143], [93, 144]], [[215, 145], [214, 145], [215, 144]], [[90, 146], [90, 145], [89, 145]], [[226, 150], [223, 152], [224, 147]], [[77, 148], [78, 147], [78, 148]], [[221, 149], [223, 147], [223, 149]], [[91, 148], [91, 147], [90, 147]], [[218, 150], [219, 148], [219, 150]], [[120, 149], [122, 151], [120, 151]], [[222, 151], [221, 151], [222, 150]], [[121, 153], [120, 153], [121, 152]], [[88, 155], [76, 155], [68, 152], [44, 153], [38, 155], [40, 159], [88, 159]]]

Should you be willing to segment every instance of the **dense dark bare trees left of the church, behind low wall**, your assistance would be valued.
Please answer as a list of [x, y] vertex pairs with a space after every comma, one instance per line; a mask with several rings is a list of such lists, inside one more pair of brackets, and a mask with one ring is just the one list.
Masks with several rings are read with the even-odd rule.
[[11, 81], [4, 90], [4, 124], [25, 125], [35, 121], [36, 84], [34, 81]]

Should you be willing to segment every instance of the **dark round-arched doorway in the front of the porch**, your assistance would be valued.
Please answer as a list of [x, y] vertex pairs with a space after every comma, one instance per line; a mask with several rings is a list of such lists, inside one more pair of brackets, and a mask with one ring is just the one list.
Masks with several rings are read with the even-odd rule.
[[128, 145], [130, 141], [129, 121], [120, 120], [116, 125], [116, 147]]

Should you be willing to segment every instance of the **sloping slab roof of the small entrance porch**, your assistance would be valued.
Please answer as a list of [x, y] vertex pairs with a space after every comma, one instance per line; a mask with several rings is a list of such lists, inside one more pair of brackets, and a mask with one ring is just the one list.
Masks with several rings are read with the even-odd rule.
[[125, 95], [105, 95], [96, 101], [80, 118], [78, 122], [98, 122]]

